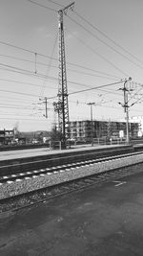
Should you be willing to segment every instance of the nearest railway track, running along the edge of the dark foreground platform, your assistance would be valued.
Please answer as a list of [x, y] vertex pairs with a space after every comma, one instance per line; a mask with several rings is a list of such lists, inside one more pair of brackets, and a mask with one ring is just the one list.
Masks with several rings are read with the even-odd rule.
[[61, 183], [52, 187], [36, 190], [34, 192], [25, 193], [16, 197], [5, 198], [0, 200], [0, 212], [15, 212], [38, 203], [46, 202], [53, 198], [59, 198], [70, 193], [87, 190], [92, 186], [101, 186], [105, 182], [111, 182], [114, 180], [116, 182], [116, 180], [119, 178], [140, 173], [142, 172], [142, 169], [143, 163], [140, 163], [134, 166], [112, 170], [102, 174], [82, 177], [77, 180], [72, 180], [70, 182]]

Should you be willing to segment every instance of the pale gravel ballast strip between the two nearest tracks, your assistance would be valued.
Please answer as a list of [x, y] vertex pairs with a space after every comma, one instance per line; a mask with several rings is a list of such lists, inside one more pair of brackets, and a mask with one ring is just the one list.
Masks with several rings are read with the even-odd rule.
[[9, 183], [1, 183], [0, 185], [0, 199], [10, 198], [16, 195], [31, 192], [37, 189], [51, 187], [66, 181], [81, 178], [84, 176], [100, 174], [111, 171], [113, 169], [128, 167], [133, 164], [143, 162], [143, 153], [133, 156], [126, 156], [109, 161], [81, 166], [78, 168], [71, 168], [61, 170], [59, 172], [48, 173], [45, 175], [33, 175], [23, 179], [16, 179]]

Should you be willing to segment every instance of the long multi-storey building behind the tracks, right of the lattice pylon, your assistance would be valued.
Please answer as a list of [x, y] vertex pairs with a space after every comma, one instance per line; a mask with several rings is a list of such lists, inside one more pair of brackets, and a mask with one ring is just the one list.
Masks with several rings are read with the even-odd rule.
[[[138, 136], [139, 124], [130, 123], [130, 137]], [[73, 121], [70, 122], [71, 139], [80, 142], [90, 142], [91, 138], [117, 139], [126, 137], [126, 122], [112, 121]]]

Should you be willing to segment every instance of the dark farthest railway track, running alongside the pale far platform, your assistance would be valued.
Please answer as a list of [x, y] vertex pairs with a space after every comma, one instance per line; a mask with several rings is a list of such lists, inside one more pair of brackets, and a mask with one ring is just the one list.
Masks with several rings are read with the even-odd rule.
[[[56, 167], [59, 165], [74, 164], [85, 160], [95, 160], [108, 156], [121, 155], [133, 152], [131, 146], [117, 147], [112, 149], [85, 150], [85, 151], [65, 151], [64, 153], [56, 152], [56, 154], [36, 155], [31, 157], [20, 157], [15, 159], [1, 160], [0, 176], [15, 175], [16, 173], [34, 171], [35, 169], [45, 169]], [[135, 149], [134, 152], [137, 152]]]

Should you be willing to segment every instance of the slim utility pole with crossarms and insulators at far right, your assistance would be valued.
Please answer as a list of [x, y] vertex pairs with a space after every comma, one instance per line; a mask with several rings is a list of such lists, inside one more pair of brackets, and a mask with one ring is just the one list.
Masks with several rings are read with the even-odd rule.
[[128, 81], [131, 81], [132, 78], [129, 78], [129, 80], [124, 81], [124, 87], [120, 88], [124, 92], [124, 105], [119, 103], [124, 107], [124, 112], [125, 112], [125, 119], [126, 119], [126, 142], [129, 144], [130, 142], [130, 136], [129, 136], [129, 105], [128, 105], [128, 88], [126, 86]]

